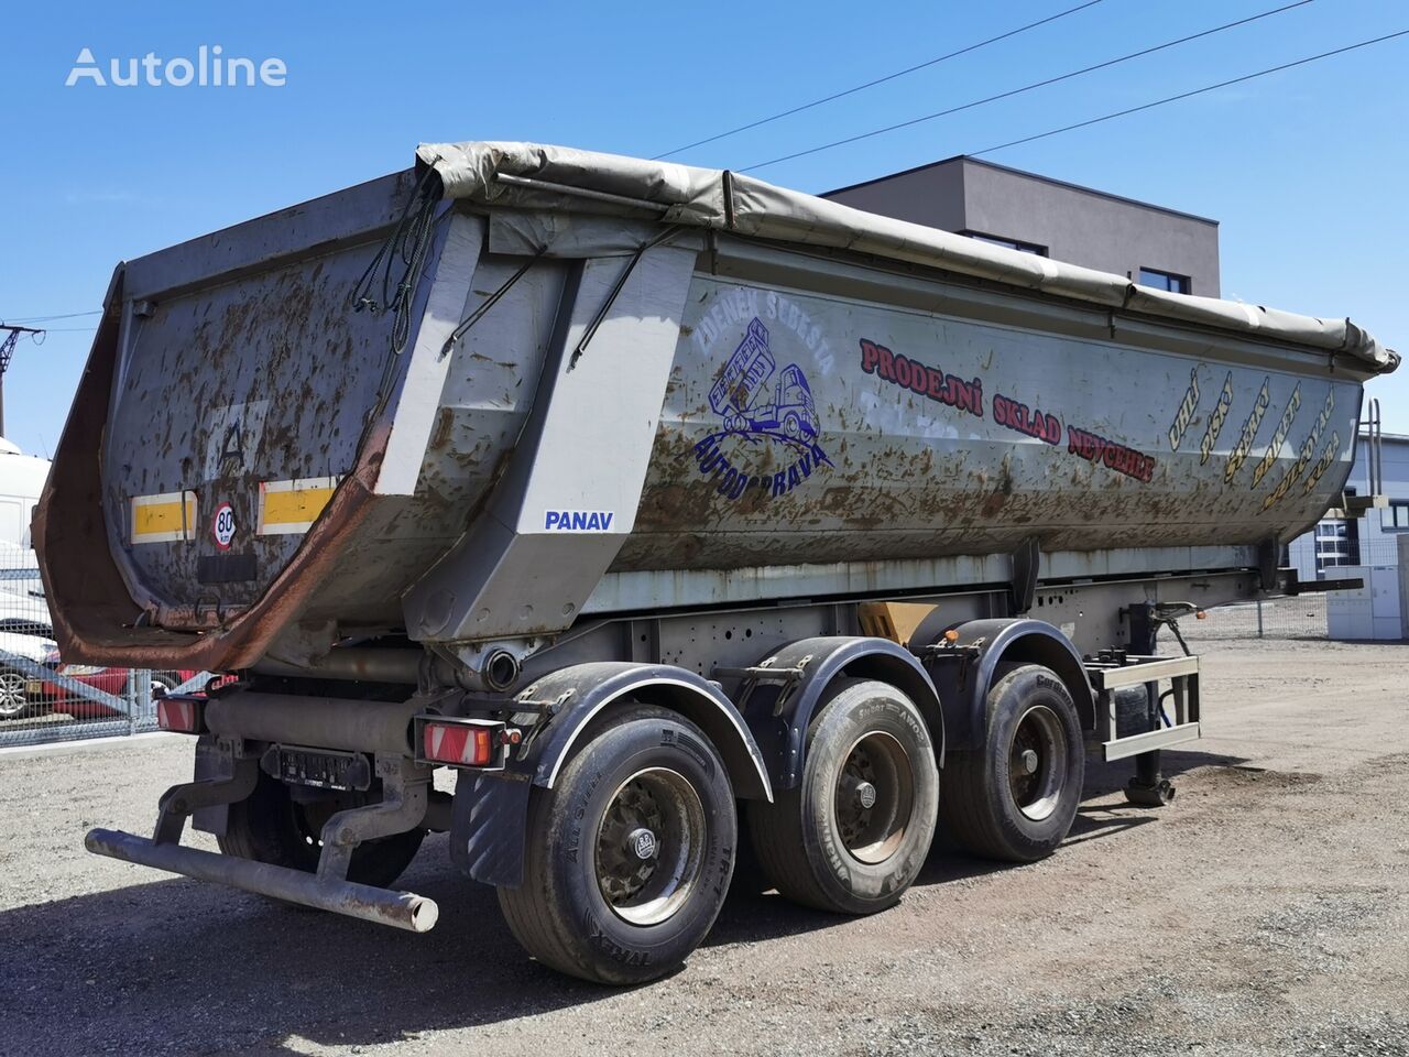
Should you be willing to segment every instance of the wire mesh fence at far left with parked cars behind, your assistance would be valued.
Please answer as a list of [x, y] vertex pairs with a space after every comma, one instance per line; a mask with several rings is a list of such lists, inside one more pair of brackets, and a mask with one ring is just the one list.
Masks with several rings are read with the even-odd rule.
[[66, 662], [38, 569], [0, 569], [0, 747], [155, 730], [154, 691], [197, 691], [209, 678]]

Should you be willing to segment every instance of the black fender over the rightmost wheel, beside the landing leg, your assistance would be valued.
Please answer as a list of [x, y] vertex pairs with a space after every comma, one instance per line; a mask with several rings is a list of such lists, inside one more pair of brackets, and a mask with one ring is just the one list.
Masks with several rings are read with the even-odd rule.
[[988, 733], [988, 691], [995, 669], [1003, 661], [1027, 661], [1051, 668], [1071, 692], [1082, 730], [1095, 729], [1095, 696], [1081, 653], [1053, 624], [1030, 617], [1005, 617], [968, 620], [948, 631], [958, 633], [954, 640], [958, 660], [936, 658], [926, 667], [940, 692], [951, 748], [982, 747]]

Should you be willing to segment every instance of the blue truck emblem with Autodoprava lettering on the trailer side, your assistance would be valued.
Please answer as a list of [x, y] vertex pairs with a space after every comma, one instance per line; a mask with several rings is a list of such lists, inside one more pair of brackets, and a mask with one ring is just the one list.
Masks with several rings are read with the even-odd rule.
[[[735, 331], [738, 333], [738, 331]], [[695, 445], [699, 472], [728, 499], [758, 489], [769, 499], [786, 495], [831, 465], [817, 443], [821, 423], [807, 376], [797, 364], [778, 369], [768, 327], [748, 320], [733, 355], [710, 388], [709, 404], [721, 428]], [[782, 448], [788, 461], [759, 458], [759, 448]]]

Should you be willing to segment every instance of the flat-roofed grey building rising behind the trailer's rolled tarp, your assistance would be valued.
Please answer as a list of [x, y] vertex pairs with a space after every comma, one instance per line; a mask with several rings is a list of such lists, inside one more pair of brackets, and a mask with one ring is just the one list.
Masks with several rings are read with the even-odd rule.
[[1216, 220], [958, 155], [824, 199], [1175, 293], [1219, 296]]

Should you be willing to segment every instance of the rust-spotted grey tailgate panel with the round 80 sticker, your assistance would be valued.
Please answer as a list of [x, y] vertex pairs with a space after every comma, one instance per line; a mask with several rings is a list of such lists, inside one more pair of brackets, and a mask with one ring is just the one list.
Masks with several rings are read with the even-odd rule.
[[[349, 306], [375, 251], [368, 244], [158, 300], [148, 319], [132, 320], [104, 481], [114, 534], [158, 596], [255, 600], [303, 540], [256, 531], [261, 482], [352, 468], [390, 355], [390, 317]], [[134, 543], [132, 499], [183, 490], [196, 496], [190, 538]]]

